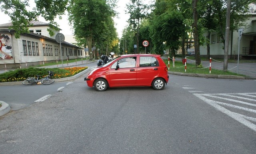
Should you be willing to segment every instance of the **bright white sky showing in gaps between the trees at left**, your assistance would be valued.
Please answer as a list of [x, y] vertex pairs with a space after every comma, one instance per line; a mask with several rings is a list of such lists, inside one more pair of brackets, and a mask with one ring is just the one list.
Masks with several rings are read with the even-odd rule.
[[[121, 38], [122, 36], [122, 30], [128, 25], [128, 23], [126, 22], [129, 19], [129, 15], [125, 14], [126, 10], [126, 3], [130, 2], [130, 0], [119, 0], [117, 3], [117, 9], [116, 11], [119, 12], [118, 17], [119, 18], [114, 18], [114, 22], [115, 22], [115, 27], [116, 30], [118, 32], [118, 38]], [[0, 24], [6, 24], [11, 22], [10, 18], [4, 14], [3, 12], [0, 12], [0, 16], [1, 16], [1, 20], [0, 20]], [[39, 17], [38, 19], [40, 22], [46, 22], [49, 23], [47, 21], [44, 20], [44, 18]], [[60, 31], [60, 33], [64, 34], [64, 35], [72, 35], [72, 27], [70, 27], [68, 25], [68, 16], [62, 16], [62, 20], [56, 19], [55, 20], [58, 24], [59, 24], [59, 28], [62, 29]]]

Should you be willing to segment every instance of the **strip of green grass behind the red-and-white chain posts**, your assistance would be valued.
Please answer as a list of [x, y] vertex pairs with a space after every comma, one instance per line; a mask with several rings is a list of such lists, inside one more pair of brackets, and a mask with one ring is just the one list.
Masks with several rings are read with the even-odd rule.
[[[166, 65], [168, 67], [168, 60], [164, 59], [164, 62], [166, 63]], [[222, 70], [218, 70], [218, 69], [211, 69], [211, 73], [210, 73], [209, 67], [197, 68], [196, 65], [189, 64], [189, 63], [187, 63], [186, 66], [187, 66], [187, 69], [185, 72], [185, 66], [181, 61], [176, 61], [174, 68], [172, 66], [172, 62], [170, 62], [170, 69], [168, 71], [181, 72], [181, 73], [213, 74], [213, 75], [237, 75], [237, 76], [246, 77], [246, 75], [237, 74], [237, 73], [230, 72], [230, 71], [222, 71]]]

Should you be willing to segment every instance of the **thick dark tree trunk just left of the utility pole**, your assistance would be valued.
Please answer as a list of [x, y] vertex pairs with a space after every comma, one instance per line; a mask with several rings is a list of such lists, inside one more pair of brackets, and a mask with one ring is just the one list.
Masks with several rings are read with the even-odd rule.
[[199, 50], [199, 35], [198, 35], [198, 13], [197, 13], [197, 2], [198, 0], [192, 0], [192, 10], [193, 10], [193, 19], [194, 23], [192, 24], [193, 33], [194, 33], [194, 47], [195, 47], [195, 58], [196, 58], [196, 67], [200, 67], [201, 58]]

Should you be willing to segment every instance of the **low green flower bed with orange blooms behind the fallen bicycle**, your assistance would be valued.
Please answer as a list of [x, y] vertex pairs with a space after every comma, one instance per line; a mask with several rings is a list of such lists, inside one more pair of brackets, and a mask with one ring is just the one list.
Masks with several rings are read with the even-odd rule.
[[48, 71], [54, 73], [52, 79], [59, 79], [64, 77], [71, 77], [88, 69], [88, 67], [71, 67], [71, 68], [35, 68], [29, 67], [27, 69], [16, 69], [14, 71], [8, 71], [0, 74], [0, 82], [14, 82], [14, 81], [24, 81], [28, 77], [36, 77], [39, 75], [45, 77], [49, 74]]

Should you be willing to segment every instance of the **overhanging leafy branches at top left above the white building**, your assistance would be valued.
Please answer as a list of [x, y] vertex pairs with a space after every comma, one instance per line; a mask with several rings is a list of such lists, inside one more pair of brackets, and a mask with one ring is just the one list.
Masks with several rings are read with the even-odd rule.
[[28, 33], [28, 26], [32, 26], [30, 22], [36, 20], [39, 15], [50, 22], [48, 32], [50, 36], [53, 36], [58, 26], [54, 19], [61, 18], [61, 15], [68, 9], [68, 0], [35, 0], [36, 7], [27, 10], [30, 3], [29, 0], [0, 0], [0, 10], [11, 18], [10, 29], [15, 30], [15, 37], [20, 38], [20, 34]]

